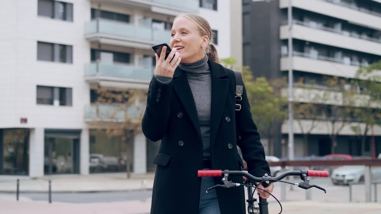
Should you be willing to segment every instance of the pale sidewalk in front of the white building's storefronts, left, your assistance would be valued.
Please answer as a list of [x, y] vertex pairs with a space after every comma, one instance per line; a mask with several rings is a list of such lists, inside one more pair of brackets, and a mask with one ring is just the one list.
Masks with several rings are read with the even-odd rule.
[[[0, 193], [16, 192], [16, 176], [0, 176]], [[54, 175], [40, 179], [20, 178], [20, 192], [48, 192], [51, 180], [52, 192], [113, 192], [152, 190], [154, 173], [132, 175], [126, 173], [82, 175]]]

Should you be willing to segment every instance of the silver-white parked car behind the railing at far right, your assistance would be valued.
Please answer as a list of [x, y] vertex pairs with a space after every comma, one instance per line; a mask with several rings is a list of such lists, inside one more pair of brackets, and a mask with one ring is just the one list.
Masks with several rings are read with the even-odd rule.
[[[333, 184], [364, 182], [365, 166], [340, 166], [331, 173]], [[372, 180], [381, 180], [381, 167], [371, 168]]]

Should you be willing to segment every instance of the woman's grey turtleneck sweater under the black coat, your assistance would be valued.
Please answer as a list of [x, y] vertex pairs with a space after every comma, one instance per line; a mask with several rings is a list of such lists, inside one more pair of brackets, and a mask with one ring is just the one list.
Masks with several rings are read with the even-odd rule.
[[[196, 62], [180, 63], [179, 67], [185, 71], [196, 104], [203, 141], [203, 157], [210, 158], [211, 75], [208, 56], [205, 55]], [[172, 81], [172, 77], [163, 77], [156, 74], [155, 78], [164, 84], [169, 84]]]

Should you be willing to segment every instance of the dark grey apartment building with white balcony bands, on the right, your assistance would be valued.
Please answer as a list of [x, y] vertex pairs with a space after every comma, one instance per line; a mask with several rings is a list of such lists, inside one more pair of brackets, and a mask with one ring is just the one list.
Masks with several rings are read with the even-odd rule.
[[[288, 28], [288, 6], [292, 7], [291, 35]], [[292, 39], [292, 65], [288, 58], [288, 39]], [[380, 0], [244, 0], [243, 1], [243, 64], [249, 65], [255, 76], [288, 77], [293, 70], [294, 101], [313, 102], [298, 95], [323, 93], [331, 88], [325, 78], [338, 77], [348, 81], [359, 67], [381, 60], [381, 1]], [[298, 88], [303, 78], [311, 89]], [[349, 87], [346, 86], [346, 87]], [[288, 89], [283, 94], [287, 96]], [[361, 89], [358, 89], [360, 96]], [[324, 108], [344, 103], [343, 93], [331, 91], [336, 100], [320, 103]], [[340, 98], [341, 97], [341, 98]], [[345, 104], [343, 104], [345, 105]], [[375, 104], [381, 108], [381, 104]], [[297, 117], [296, 115], [295, 117]], [[325, 115], [330, 117], [330, 115]], [[298, 118], [306, 129], [312, 120]], [[351, 118], [346, 118], [346, 123]], [[344, 119], [343, 119], [344, 121]], [[338, 127], [343, 121], [336, 123]], [[371, 156], [371, 137], [362, 145], [351, 128], [353, 121], [339, 132], [335, 153]], [[364, 124], [360, 123], [363, 128]], [[294, 120], [295, 157], [331, 153], [329, 133], [331, 123], [321, 119], [312, 129], [306, 144], [303, 132]], [[338, 129], [336, 129], [338, 130]], [[374, 127], [376, 155], [381, 152], [381, 128]], [[368, 131], [371, 135], [371, 129]], [[287, 156], [288, 121], [275, 137], [274, 154]]]

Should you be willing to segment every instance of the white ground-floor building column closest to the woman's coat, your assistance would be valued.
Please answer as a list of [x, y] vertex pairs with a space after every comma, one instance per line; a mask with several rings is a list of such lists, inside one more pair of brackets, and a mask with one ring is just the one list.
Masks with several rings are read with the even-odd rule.
[[147, 141], [143, 133], [138, 134], [134, 140], [134, 174], [147, 173]]

